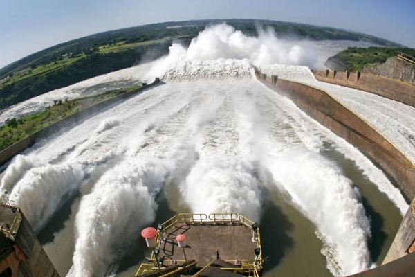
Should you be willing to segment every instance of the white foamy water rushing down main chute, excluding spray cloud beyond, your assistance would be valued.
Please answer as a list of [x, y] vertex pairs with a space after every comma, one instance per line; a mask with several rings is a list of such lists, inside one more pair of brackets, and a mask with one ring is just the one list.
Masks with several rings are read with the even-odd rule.
[[[304, 125], [313, 125], [315, 130], [309, 132]], [[365, 239], [370, 232], [351, 182], [332, 161], [318, 154], [324, 132], [292, 102], [253, 79], [170, 82], [107, 109], [48, 143], [35, 145], [32, 152], [12, 163], [2, 181], [6, 186], [12, 178], [19, 179], [14, 187], [7, 186], [12, 198], [22, 203], [25, 194], [19, 192], [23, 188], [56, 186], [56, 192], [41, 193], [22, 206], [28, 218], [42, 221], [62, 201], [64, 193], [59, 188], [75, 189], [84, 174], [100, 164], [109, 165], [81, 200], [74, 276], [107, 272], [120, 256], [119, 245], [154, 219], [154, 197], [167, 180], [176, 183], [194, 212], [232, 211], [255, 220], [261, 214], [264, 184], [275, 183], [290, 193], [326, 243], [336, 249], [339, 272], [352, 273], [369, 266]], [[31, 157], [43, 159], [28, 163], [35, 159]], [[77, 175], [69, 170], [75, 163], [80, 167]], [[304, 172], [291, 166], [294, 163], [306, 164]], [[18, 170], [20, 164], [26, 172]], [[59, 167], [67, 168], [68, 177], [58, 186], [50, 172]], [[265, 172], [272, 175], [271, 182]], [[310, 183], [310, 175], [317, 179]], [[33, 176], [38, 181], [30, 182]], [[309, 188], [308, 193], [301, 186]], [[325, 205], [318, 217], [317, 211], [312, 212], [318, 206], [311, 201], [313, 197], [320, 197]], [[43, 206], [42, 211], [32, 211], [29, 206], [35, 204]], [[334, 213], [338, 217], [331, 216]], [[351, 228], [343, 228], [342, 222]], [[340, 235], [347, 242], [338, 240]], [[345, 256], [353, 259], [346, 261]]]

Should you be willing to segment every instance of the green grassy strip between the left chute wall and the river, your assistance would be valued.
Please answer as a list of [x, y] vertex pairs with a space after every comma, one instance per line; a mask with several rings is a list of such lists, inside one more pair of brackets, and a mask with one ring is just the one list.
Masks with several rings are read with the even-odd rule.
[[22, 118], [12, 118], [6, 121], [6, 124], [0, 127], [0, 150], [16, 143], [25, 136], [51, 125], [66, 116], [71, 116], [77, 111], [82, 111], [87, 107], [114, 98], [121, 93], [128, 93], [140, 88], [141, 85], [128, 87], [127, 89], [117, 89], [107, 91], [99, 96], [90, 96], [73, 100], [56, 100], [54, 105], [40, 111], [36, 114], [30, 114]]

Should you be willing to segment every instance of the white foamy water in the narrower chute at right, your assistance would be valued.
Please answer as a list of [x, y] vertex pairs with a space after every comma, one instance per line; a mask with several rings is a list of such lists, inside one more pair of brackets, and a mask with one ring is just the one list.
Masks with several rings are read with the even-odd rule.
[[281, 78], [304, 82], [323, 89], [342, 105], [358, 114], [369, 125], [378, 130], [390, 141], [409, 161], [415, 163], [415, 108], [401, 102], [390, 100], [373, 93], [358, 89], [342, 87], [315, 80], [313, 73], [302, 66], [272, 65], [262, 66], [262, 72], [279, 75]]

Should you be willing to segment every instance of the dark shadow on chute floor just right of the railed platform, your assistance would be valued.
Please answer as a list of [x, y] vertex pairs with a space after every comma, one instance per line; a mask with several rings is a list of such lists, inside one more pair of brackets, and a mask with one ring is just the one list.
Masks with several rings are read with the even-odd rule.
[[260, 220], [262, 255], [266, 258], [264, 272], [277, 267], [287, 251], [294, 247], [292, 233], [294, 224], [282, 212], [268, 200], [264, 206], [264, 213]]

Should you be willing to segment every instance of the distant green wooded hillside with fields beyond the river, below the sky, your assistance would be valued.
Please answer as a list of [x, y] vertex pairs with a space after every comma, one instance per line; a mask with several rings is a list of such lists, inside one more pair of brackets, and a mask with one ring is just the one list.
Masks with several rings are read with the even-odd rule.
[[[111, 30], [39, 51], [0, 69], [0, 109], [87, 78], [124, 69], [142, 59], [154, 59], [167, 53], [173, 41], [188, 44], [205, 26], [219, 22], [223, 20], [165, 22]], [[260, 24], [282, 36], [364, 40], [397, 46], [378, 37], [328, 27], [252, 19], [226, 22], [246, 35], [257, 35], [257, 24]]]

